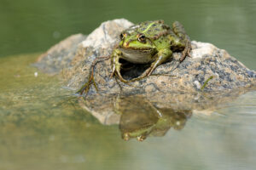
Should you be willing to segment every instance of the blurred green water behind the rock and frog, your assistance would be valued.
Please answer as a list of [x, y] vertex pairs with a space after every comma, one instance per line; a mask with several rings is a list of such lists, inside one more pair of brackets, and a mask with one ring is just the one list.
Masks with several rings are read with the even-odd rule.
[[105, 20], [178, 20], [191, 39], [212, 42], [255, 69], [255, 17], [255, 0], [0, 0], [0, 57], [44, 52]]

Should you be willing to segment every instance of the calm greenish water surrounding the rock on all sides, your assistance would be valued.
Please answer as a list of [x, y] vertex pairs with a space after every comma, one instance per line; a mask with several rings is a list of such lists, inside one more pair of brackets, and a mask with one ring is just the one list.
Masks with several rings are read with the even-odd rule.
[[255, 169], [255, 91], [211, 115], [193, 114], [163, 137], [125, 141], [118, 125], [102, 125], [58, 77], [30, 65], [32, 53], [124, 17], [179, 20], [192, 39], [227, 49], [255, 70], [255, 9], [253, 0], [1, 0], [0, 169]]

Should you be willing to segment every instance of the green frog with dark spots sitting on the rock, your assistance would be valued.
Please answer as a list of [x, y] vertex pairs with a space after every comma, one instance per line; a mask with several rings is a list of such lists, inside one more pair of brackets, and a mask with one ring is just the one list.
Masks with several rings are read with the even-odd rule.
[[[182, 52], [179, 59], [182, 62], [189, 56], [190, 49], [189, 36], [179, 22], [175, 21], [171, 29], [163, 20], [144, 21], [121, 32], [119, 45], [111, 54], [111, 76], [116, 75], [121, 82], [140, 80], [150, 76], [158, 65], [172, 59], [173, 52]], [[119, 59], [151, 65], [141, 76], [128, 81], [120, 73], [122, 65]]]

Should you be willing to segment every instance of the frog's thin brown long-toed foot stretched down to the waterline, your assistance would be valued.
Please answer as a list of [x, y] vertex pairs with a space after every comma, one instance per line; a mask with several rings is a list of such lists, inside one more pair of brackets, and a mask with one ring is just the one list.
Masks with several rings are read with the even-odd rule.
[[88, 77], [88, 81], [84, 83], [84, 85], [76, 92], [76, 94], [87, 94], [90, 90], [90, 86], [93, 83], [94, 87], [96, 88], [96, 91], [98, 91], [98, 88], [96, 86], [96, 82], [94, 80], [94, 68], [96, 66], [97, 63], [102, 62], [104, 60], [110, 59], [110, 56], [105, 56], [105, 57], [98, 57], [96, 59], [93, 60], [92, 64], [90, 65], [90, 73], [89, 73], [89, 77]]

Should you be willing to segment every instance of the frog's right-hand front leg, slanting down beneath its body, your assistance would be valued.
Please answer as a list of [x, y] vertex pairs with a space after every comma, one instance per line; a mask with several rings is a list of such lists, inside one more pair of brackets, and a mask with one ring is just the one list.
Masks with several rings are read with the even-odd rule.
[[158, 65], [161, 65], [162, 63], [166, 62], [166, 60], [170, 59], [171, 57], [172, 57], [172, 51], [170, 49], [168, 48], [160, 49], [159, 52], [156, 54], [155, 61], [150, 65], [150, 67], [143, 72], [143, 75], [132, 79], [132, 81], [140, 80], [144, 77], [149, 77]]

